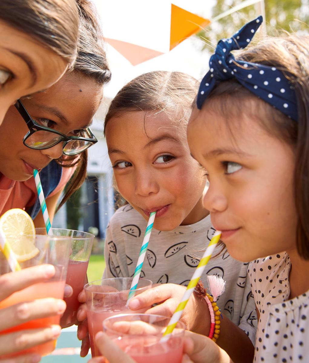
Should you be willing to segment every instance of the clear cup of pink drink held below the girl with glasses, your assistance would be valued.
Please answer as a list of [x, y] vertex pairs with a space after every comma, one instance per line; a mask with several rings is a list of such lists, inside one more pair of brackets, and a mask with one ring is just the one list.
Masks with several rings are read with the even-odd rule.
[[[66, 274], [66, 284], [72, 286], [73, 295], [64, 298], [66, 310], [60, 320], [62, 328], [73, 325], [80, 303], [77, 299], [85, 285], [85, 278], [89, 264], [94, 235], [87, 232], [74, 231], [72, 229], [53, 228], [54, 236], [72, 237], [71, 254]], [[36, 228], [37, 234], [46, 234], [45, 228]]]

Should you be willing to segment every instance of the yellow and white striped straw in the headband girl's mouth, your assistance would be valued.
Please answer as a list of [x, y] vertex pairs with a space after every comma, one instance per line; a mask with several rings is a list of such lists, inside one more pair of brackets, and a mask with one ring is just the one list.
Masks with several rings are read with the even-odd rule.
[[175, 326], [179, 322], [179, 319], [182, 315], [183, 309], [186, 307], [188, 300], [190, 299], [191, 294], [193, 293], [195, 286], [198, 284], [200, 277], [202, 276], [202, 273], [205, 269], [205, 266], [208, 264], [208, 261], [210, 260], [210, 257], [212, 253], [214, 252], [214, 249], [219, 242], [221, 237], [221, 232], [216, 231], [214, 236], [211, 238], [211, 241], [209, 242], [208, 247], [206, 248], [206, 251], [204, 252], [204, 255], [202, 259], [200, 260], [200, 263], [198, 267], [195, 269], [194, 274], [187, 286], [187, 290], [183, 294], [183, 297], [177, 306], [175, 313], [172, 315], [171, 320], [166, 327], [166, 330], [163, 333], [163, 337], [160, 339], [160, 342], [166, 342], [170, 335], [172, 334], [172, 331], [174, 330]]

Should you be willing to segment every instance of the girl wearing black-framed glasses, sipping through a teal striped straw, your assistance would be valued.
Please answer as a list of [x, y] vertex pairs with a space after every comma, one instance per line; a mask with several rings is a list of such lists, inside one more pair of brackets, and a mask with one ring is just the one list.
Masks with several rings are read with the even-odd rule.
[[44, 227], [33, 169], [40, 171], [50, 219], [86, 175], [86, 148], [97, 140], [89, 125], [110, 79], [100, 29], [88, 1], [80, 1], [78, 56], [73, 71], [44, 92], [11, 106], [0, 126], [0, 214], [24, 208], [36, 227]]

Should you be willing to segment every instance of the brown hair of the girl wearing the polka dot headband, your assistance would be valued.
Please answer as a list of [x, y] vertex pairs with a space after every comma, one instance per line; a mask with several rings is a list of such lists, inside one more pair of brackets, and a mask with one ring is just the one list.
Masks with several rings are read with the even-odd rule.
[[[294, 195], [297, 209], [297, 250], [309, 260], [309, 36], [288, 35], [268, 37], [248, 50], [238, 60], [275, 66], [282, 70], [295, 88], [297, 122], [258, 99], [235, 79], [220, 82], [208, 96], [204, 105], [221, 112], [228, 122], [231, 115], [259, 115], [266, 131], [288, 142], [295, 150]], [[242, 99], [242, 102], [239, 102]], [[251, 109], [245, 108], [251, 102]], [[237, 104], [237, 107], [235, 107]], [[203, 105], [203, 107], [204, 107]]]

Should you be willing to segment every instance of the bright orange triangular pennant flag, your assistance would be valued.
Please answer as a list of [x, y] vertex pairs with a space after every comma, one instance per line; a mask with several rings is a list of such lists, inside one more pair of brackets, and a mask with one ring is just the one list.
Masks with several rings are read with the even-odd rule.
[[170, 50], [209, 23], [210, 20], [172, 4]]

